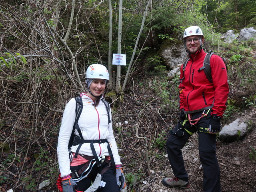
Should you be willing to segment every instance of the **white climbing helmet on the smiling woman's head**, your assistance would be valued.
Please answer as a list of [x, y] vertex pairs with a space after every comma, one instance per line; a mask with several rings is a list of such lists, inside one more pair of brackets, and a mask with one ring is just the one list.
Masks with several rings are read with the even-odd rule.
[[87, 68], [85, 78], [109, 80], [108, 70], [104, 65], [92, 64]]

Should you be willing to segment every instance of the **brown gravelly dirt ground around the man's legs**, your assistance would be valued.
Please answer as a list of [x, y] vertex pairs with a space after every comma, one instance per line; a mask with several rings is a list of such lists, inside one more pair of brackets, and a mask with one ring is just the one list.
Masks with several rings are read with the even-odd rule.
[[[246, 114], [246, 113], [245, 113]], [[250, 120], [254, 126], [255, 112]], [[217, 142], [217, 157], [220, 166], [222, 192], [256, 192], [256, 162], [250, 159], [252, 148], [256, 149], [256, 129], [249, 132], [239, 141], [225, 143]], [[251, 148], [251, 147], [252, 148]], [[200, 166], [198, 142], [196, 135], [182, 150], [184, 162], [188, 171], [190, 188], [168, 188], [162, 185], [164, 177], [173, 177], [172, 169], [166, 156], [166, 164], [162, 164], [154, 175], [151, 175], [140, 191], [145, 192], [202, 192], [203, 170]]]

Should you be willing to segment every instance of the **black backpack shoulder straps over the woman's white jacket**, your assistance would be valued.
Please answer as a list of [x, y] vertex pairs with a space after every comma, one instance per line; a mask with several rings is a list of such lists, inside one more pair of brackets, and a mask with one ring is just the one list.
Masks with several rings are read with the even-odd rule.
[[[68, 142], [68, 149], [70, 149], [70, 147], [74, 144], [75, 129], [78, 131], [80, 139], [83, 139], [82, 132], [78, 126], [78, 119], [80, 118], [81, 112], [83, 110], [83, 102], [82, 102], [82, 98], [80, 96], [75, 97], [75, 100], [76, 100], [76, 119], [74, 122], [73, 130], [72, 130], [69, 142]], [[111, 122], [111, 120], [110, 120], [110, 104], [109, 104], [109, 102], [107, 102], [106, 100], [103, 100], [103, 99], [102, 99], [102, 102], [106, 106], [106, 110], [108, 112], [108, 124], [110, 124], [110, 122]]]

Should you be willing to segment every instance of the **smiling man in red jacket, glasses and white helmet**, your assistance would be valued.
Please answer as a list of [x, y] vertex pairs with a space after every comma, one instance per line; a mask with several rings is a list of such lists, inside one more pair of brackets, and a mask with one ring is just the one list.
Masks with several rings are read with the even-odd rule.
[[212, 83], [203, 66], [206, 53], [202, 49], [204, 35], [198, 26], [184, 31], [184, 46], [189, 60], [180, 72], [180, 120], [166, 142], [168, 159], [174, 178], [164, 178], [167, 187], [189, 188], [181, 149], [188, 138], [198, 132], [199, 156], [202, 164], [204, 192], [220, 192], [220, 170], [216, 156], [216, 134], [220, 132], [220, 119], [226, 109], [228, 78], [226, 66], [217, 55], [210, 58]]

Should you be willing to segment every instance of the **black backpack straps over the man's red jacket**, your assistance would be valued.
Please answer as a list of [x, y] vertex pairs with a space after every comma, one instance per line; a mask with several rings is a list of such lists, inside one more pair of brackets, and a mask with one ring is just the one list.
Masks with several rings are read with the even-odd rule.
[[[210, 67], [210, 59], [211, 59], [211, 56], [214, 54], [214, 52], [212, 52], [211, 50], [206, 54], [205, 58], [204, 58], [204, 65], [198, 70], [204, 70], [204, 73], [207, 77], [207, 79], [212, 83], [212, 70], [211, 70], [211, 67]], [[226, 66], [226, 70], [228, 70], [228, 66], [227, 66], [227, 62], [226, 62], [226, 59], [224, 57], [221, 57], [222, 60], [224, 61], [225, 63], [225, 66]], [[185, 67], [188, 63], [188, 60], [189, 58], [187, 58], [186, 61], [184, 61], [183, 63], [183, 68], [182, 68], [182, 71], [183, 71], [183, 74], [184, 74], [184, 70], [185, 70]]]

